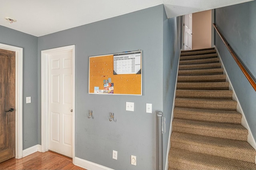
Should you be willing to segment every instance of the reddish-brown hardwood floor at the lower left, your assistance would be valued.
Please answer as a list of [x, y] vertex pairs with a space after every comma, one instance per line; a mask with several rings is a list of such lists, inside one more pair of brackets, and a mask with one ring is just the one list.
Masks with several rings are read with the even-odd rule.
[[52, 151], [35, 152], [21, 159], [0, 163], [0, 170], [85, 170], [72, 163], [72, 158]]

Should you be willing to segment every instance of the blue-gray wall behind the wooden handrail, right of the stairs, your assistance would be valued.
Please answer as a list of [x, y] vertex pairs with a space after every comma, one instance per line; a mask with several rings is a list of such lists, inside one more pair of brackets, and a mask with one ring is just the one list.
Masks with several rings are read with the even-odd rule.
[[[216, 25], [244, 65], [256, 77], [256, 1], [216, 9]], [[256, 92], [216, 34], [216, 47], [248, 125], [256, 138]]]

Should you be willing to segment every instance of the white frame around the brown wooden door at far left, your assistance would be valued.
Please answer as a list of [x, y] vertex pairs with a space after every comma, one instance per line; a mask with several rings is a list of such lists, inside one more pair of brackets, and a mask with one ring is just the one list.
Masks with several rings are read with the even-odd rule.
[[15, 158], [23, 157], [22, 150], [22, 84], [23, 48], [0, 43], [0, 49], [15, 51]]

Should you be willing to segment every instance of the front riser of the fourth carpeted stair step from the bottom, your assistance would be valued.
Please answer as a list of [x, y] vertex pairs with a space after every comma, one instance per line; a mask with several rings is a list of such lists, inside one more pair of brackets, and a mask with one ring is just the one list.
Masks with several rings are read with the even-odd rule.
[[241, 119], [232, 117], [221, 117], [208, 115], [195, 115], [195, 114], [180, 114], [174, 112], [174, 118], [177, 119], [190, 119], [194, 121], [208, 121], [208, 122], [218, 122], [218, 123], [231, 123], [231, 124], [241, 124]]

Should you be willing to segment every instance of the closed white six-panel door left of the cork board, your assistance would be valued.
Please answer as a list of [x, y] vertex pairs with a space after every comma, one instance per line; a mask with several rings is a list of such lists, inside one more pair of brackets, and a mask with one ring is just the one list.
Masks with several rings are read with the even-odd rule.
[[49, 55], [48, 59], [48, 146], [72, 157], [72, 51]]

